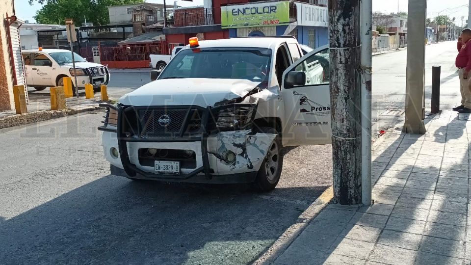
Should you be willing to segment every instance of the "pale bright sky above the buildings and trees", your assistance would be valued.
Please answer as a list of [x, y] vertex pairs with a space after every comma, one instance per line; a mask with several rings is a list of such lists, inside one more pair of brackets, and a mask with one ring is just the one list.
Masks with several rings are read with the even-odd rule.
[[[33, 16], [36, 10], [41, 8], [41, 4], [35, 2], [29, 5], [28, 0], [14, 0], [16, 15], [21, 20], [28, 20], [33, 23]], [[397, 12], [397, 4], [399, 3], [399, 11], [407, 11], [408, 0], [372, 0], [373, 11], [381, 11], [384, 13]], [[163, 0], [147, 0], [150, 3], [163, 3]], [[451, 18], [456, 17], [456, 24], [460, 25], [461, 17], [464, 16], [464, 22], [468, 19], [468, 0], [427, 0], [427, 18], [433, 19], [439, 12], [440, 15], [448, 15]], [[173, 4], [173, 0], [166, 1], [167, 4]], [[193, 0], [193, 2], [177, 0], [180, 6], [203, 5], [203, 0]]]

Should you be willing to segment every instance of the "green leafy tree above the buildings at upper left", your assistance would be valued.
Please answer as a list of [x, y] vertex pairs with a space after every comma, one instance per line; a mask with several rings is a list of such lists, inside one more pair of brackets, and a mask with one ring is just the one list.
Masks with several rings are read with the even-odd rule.
[[109, 23], [108, 6], [131, 3], [143, 3], [144, 0], [29, 0], [37, 1], [44, 6], [36, 11], [37, 23], [64, 25], [66, 18], [72, 18], [75, 25], [93, 22], [94, 25]]

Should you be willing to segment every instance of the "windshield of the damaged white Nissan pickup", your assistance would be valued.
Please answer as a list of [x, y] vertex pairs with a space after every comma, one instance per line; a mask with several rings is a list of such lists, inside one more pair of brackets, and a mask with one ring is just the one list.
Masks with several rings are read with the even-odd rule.
[[270, 71], [271, 50], [263, 48], [184, 49], [158, 79], [215, 78], [263, 81]]

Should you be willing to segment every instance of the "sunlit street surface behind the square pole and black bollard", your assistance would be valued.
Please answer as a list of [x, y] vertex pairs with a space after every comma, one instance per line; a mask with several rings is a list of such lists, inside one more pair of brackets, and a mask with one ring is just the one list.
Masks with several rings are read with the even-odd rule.
[[[441, 109], [460, 104], [460, 81], [454, 65], [456, 41], [425, 46], [425, 111], [430, 111], [432, 66], [441, 66]], [[373, 57], [372, 122], [373, 132], [390, 128], [404, 120], [404, 116], [381, 115], [388, 109], [404, 109], [406, 97], [407, 50]]]

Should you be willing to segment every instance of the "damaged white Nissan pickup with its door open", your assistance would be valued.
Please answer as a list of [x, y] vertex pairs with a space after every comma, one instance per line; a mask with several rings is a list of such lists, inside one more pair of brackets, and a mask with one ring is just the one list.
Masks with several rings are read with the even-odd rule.
[[112, 175], [268, 191], [282, 148], [331, 142], [328, 64], [313, 59], [327, 47], [302, 56], [289, 36], [189, 43], [157, 80], [102, 105]]

